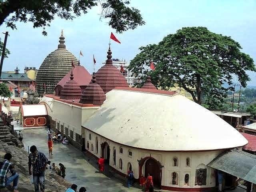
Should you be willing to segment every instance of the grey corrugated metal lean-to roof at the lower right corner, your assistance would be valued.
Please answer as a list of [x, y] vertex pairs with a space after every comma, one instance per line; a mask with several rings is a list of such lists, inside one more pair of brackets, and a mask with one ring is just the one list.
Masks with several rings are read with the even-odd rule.
[[256, 184], [256, 156], [253, 154], [233, 149], [217, 156], [208, 166]]

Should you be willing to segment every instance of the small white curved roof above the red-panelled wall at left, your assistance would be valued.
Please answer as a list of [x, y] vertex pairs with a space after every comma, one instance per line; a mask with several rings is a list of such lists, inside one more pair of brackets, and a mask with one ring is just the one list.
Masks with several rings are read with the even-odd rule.
[[22, 105], [22, 116], [41, 116], [47, 115], [47, 110], [45, 105]]

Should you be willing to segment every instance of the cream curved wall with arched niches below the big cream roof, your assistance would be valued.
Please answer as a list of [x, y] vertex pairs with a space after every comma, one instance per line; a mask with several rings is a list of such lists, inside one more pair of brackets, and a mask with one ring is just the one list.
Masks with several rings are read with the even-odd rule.
[[[218, 154], [223, 150], [205, 151], [205, 152], [157, 152], [150, 150], [142, 150], [138, 148], [132, 148], [124, 146], [122, 144], [110, 141], [86, 128], [82, 128], [85, 134], [85, 148], [96, 158], [100, 158], [103, 154], [106, 158], [106, 149], [101, 149], [101, 144], [107, 142], [110, 147], [110, 166], [118, 172], [120, 175], [125, 176], [129, 169], [128, 163], [132, 165], [134, 177], [139, 178], [139, 173], [145, 174], [144, 162], [142, 168], [138, 164], [138, 160], [152, 157], [156, 161], [159, 161], [162, 166], [162, 178], [161, 188], [174, 191], [202, 191], [202, 188], [210, 191], [210, 188], [215, 187], [215, 172], [214, 169], [207, 166]], [[91, 134], [91, 137], [90, 137]], [[98, 139], [98, 153], [96, 152], [96, 138]], [[87, 144], [89, 143], [89, 145]], [[93, 147], [92, 147], [93, 145]], [[89, 146], [89, 148], [88, 148]], [[120, 153], [122, 148], [123, 153]], [[114, 165], [113, 151], [116, 149], [116, 165]], [[132, 152], [132, 156], [129, 156], [129, 151]], [[173, 159], [177, 158], [177, 166], [174, 166]], [[186, 158], [189, 158], [189, 166], [186, 165]], [[119, 160], [122, 159], [122, 169], [119, 167]], [[195, 185], [196, 169], [206, 168], [206, 185]], [[177, 174], [177, 183], [172, 184], [172, 173]], [[188, 185], [185, 185], [185, 174], [189, 174]], [[186, 190], [188, 189], [188, 190]]]

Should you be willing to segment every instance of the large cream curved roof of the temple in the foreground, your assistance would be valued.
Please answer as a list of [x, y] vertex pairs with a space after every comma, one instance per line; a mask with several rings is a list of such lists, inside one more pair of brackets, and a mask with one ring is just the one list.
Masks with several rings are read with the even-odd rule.
[[248, 142], [220, 117], [180, 94], [117, 89], [106, 94], [104, 104], [82, 126], [114, 142], [148, 150], [218, 150]]

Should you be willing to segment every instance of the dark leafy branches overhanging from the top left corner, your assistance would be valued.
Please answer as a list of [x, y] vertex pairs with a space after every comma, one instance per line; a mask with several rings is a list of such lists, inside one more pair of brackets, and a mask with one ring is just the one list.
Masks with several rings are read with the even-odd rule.
[[55, 16], [72, 20], [98, 4], [102, 8], [100, 19], [110, 19], [108, 25], [117, 32], [145, 24], [140, 11], [128, 7], [128, 0], [0, 0], [0, 26], [6, 22], [16, 29], [17, 21], [33, 22], [34, 28], [43, 27], [42, 34], [47, 35], [45, 27], [50, 26]]

